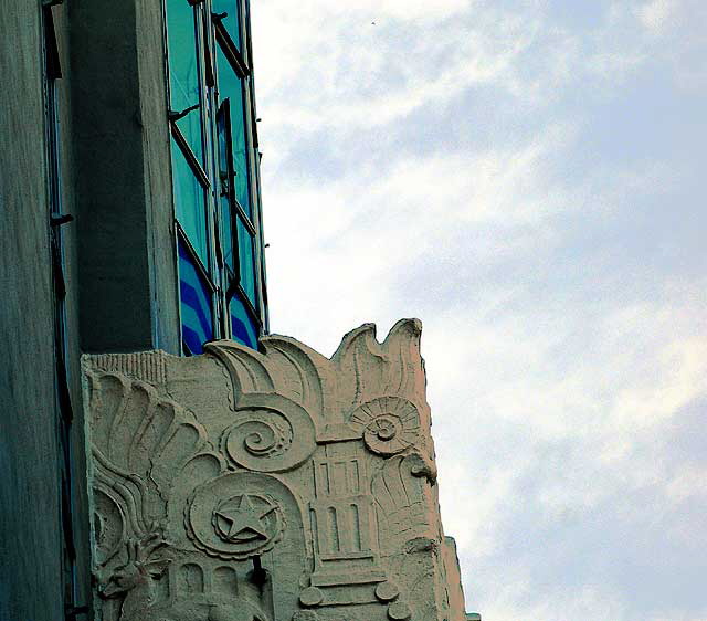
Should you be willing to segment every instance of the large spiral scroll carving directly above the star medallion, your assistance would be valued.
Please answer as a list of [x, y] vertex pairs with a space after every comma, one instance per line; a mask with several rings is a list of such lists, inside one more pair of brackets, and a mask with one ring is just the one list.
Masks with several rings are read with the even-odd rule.
[[307, 411], [279, 394], [247, 394], [221, 436], [221, 450], [238, 465], [283, 472], [304, 463], [316, 446]]

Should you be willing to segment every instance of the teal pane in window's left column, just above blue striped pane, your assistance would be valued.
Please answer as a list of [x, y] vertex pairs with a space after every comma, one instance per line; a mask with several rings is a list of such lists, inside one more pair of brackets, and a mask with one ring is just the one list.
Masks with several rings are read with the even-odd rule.
[[205, 192], [175, 140], [171, 140], [171, 146], [172, 191], [175, 192], [177, 220], [187, 233], [187, 238], [197, 251], [199, 259], [204, 266], [208, 266]]

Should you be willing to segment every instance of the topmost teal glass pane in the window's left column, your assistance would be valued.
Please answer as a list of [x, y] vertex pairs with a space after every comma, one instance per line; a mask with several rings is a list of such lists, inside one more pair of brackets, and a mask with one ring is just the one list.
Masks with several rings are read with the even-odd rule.
[[[170, 108], [184, 110], [199, 104], [199, 65], [197, 63], [197, 31], [194, 9], [187, 0], [167, 0], [167, 38], [169, 45]], [[199, 108], [177, 122], [187, 143], [203, 161], [201, 119]]]

